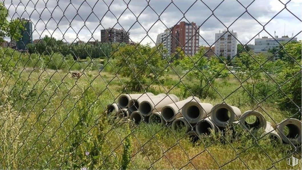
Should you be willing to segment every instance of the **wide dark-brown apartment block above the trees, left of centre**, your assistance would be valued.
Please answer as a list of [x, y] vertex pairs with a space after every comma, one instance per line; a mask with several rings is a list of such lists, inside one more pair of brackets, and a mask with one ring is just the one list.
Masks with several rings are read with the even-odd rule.
[[101, 42], [124, 42], [129, 43], [130, 32], [126, 32], [123, 29], [107, 28], [101, 30]]

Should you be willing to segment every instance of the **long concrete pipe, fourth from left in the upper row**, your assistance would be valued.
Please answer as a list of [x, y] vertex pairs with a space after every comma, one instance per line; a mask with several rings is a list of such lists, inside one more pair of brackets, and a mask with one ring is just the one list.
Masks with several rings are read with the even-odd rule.
[[174, 119], [182, 117], [182, 114], [180, 114], [182, 113], [182, 107], [189, 101], [200, 102], [198, 98], [193, 98], [193, 96], [191, 96], [185, 100], [168, 104], [162, 108], [162, 117], [166, 122], [172, 122]]

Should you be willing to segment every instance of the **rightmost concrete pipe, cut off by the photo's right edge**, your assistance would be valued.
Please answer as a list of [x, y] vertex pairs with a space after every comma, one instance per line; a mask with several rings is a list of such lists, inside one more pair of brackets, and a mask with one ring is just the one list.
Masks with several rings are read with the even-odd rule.
[[285, 119], [277, 126], [277, 133], [285, 143], [301, 144], [301, 121], [297, 119]]

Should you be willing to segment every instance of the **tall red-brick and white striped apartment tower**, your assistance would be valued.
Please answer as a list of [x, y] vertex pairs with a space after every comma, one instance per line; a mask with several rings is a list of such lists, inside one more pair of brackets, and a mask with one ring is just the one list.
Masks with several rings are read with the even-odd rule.
[[180, 22], [172, 28], [171, 53], [175, 52], [176, 47], [183, 47], [183, 51], [192, 56], [199, 48], [199, 26], [194, 22]]

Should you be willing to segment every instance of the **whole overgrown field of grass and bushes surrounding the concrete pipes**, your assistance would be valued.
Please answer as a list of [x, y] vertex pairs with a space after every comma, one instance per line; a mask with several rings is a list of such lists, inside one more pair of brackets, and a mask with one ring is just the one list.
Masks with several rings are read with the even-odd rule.
[[[242, 112], [263, 113], [273, 126], [272, 119], [279, 123], [301, 107], [301, 42], [285, 45], [284, 57], [275, 62], [269, 55], [243, 52], [232, 63], [240, 67], [234, 75], [218, 59], [203, 57], [202, 49], [190, 58], [179, 51], [172, 61], [155, 47], [125, 45], [100, 68], [102, 60], [74, 60], [60, 50], [20, 54], [1, 48], [0, 168], [291, 168], [279, 160], [293, 147], [268, 138], [256, 141], [253, 136], [263, 129], [251, 135], [234, 127], [236, 133], [212, 133], [192, 143], [168, 127], [133, 125], [104, 112], [126, 90], [169, 91], [180, 99], [194, 94], [213, 105], [223, 100]], [[71, 71], [83, 75], [77, 79]]]

